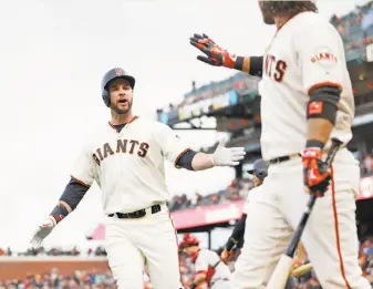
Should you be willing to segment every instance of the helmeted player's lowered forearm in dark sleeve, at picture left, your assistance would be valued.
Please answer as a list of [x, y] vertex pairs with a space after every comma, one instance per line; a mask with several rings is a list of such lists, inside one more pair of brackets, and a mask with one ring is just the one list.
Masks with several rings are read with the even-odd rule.
[[69, 182], [58, 205], [50, 214], [55, 219], [56, 224], [76, 208], [89, 189], [90, 187], [84, 186], [74, 178]]

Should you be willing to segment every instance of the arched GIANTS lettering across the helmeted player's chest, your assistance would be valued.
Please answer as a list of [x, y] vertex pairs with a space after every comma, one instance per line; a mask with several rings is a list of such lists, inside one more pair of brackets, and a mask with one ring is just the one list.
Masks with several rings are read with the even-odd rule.
[[115, 145], [105, 143], [102, 147], [96, 149], [93, 154], [94, 161], [97, 165], [110, 155], [114, 154], [137, 154], [139, 157], [145, 157], [149, 149], [148, 143], [141, 143], [135, 140], [117, 140]]

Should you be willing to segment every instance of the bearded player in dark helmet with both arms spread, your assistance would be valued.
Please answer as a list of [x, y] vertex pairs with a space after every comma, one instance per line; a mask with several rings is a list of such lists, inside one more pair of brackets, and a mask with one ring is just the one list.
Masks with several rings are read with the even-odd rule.
[[214, 154], [197, 153], [170, 127], [133, 115], [135, 79], [123, 69], [103, 78], [102, 96], [112, 120], [97, 127], [77, 157], [60, 202], [39, 226], [32, 242], [38, 246], [76, 208], [95, 180], [102, 190], [106, 224], [106, 252], [120, 289], [143, 289], [146, 262], [154, 289], [182, 288], [178, 244], [166, 202], [164, 159], [190, 171], [235, 166], [244, 147]]

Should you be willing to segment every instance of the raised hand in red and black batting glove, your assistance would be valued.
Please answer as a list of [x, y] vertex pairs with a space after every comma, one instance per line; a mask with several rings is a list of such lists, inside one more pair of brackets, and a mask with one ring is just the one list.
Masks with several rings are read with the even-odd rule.
[[194, 37], [190, 38], [190, 44], [205, 53], [206, 56], [198, 55], [198, 60], [214, 66], [235, 68], [237, 55], [221, 49], [205, 33], [201, 35], [194, 34]]

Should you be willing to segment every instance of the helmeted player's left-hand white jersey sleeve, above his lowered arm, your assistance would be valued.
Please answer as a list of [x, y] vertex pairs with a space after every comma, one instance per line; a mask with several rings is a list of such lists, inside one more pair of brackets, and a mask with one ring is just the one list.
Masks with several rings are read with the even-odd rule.
[[90, 187], [94, 179], [95, 179], [95, 163], [93, 155], [91, 154], [91, 151], [87, 146], [85, 146], [80, 155], [77, 156], [75, 164], [73, 165], [73, 168], [71, 171], [71, 177], [84, 185]]

